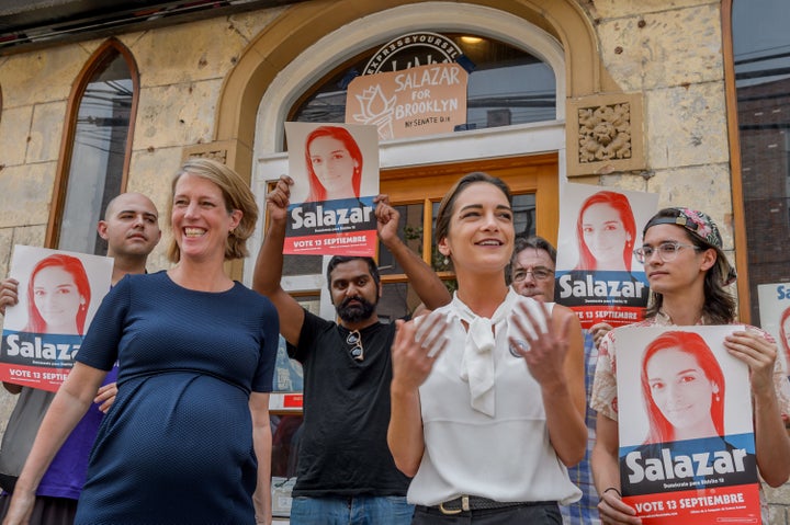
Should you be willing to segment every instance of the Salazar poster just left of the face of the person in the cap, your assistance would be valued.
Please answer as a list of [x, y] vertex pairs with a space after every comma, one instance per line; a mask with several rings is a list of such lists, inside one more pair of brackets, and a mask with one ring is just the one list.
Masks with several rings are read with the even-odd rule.
[[658, 195], [567, 183], [561, 187], [554, 300], [589, 329], [644, 319], [650, 289], [633, 250]]

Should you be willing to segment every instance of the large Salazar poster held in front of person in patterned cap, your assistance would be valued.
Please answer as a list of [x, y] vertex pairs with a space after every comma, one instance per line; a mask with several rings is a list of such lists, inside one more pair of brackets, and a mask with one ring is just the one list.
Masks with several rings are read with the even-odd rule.
[[644, 525], [760, 523], [748, 368], [723, 344], [743, 329], [618, 333], [621, 492]]

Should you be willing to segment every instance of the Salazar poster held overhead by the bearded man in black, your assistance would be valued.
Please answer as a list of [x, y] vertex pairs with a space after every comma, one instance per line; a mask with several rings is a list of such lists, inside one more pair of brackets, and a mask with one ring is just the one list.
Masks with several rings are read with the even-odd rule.
[[291, 186], [283, 253], [374, 256], [375, 126], [286, 122]]

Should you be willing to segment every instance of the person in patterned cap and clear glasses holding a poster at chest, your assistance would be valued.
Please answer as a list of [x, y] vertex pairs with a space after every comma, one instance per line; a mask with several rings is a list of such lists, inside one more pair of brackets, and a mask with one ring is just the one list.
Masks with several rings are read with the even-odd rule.
[[[726, 289], [736, 278], [722, 251], [719, 228], [704, 213], [664, 208], [647, 221], [642, 247], [634, 253], [645, 265], [652, 300], [647, 319], [631, 327], [732, 324], [735, 299]], [[636, 511], [622, 501], [619, 471], [619, 427], [616, 340], [609, 332], [599, 346], [590, 406], [598, 411], [592, 473], [605, 524], [639, 524]], [[623, 329], [625, 330], [625, 329]], [[724, 347], [748, 365], [757, 466], [763, 480], [779, 487], [790, 478], [790, 437], [782, 413], [790, 411], [790, 386], [774, 339], [746, 327], [727, 335]], [[763, 521], [768, 523], [763, 503]]]

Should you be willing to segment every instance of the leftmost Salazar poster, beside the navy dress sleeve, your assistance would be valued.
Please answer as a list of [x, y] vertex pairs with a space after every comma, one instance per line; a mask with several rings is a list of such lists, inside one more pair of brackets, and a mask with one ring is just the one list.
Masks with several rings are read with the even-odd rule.
[[113, 260], [15, 246], [10, 277], [19, 303], [5, 309], [0, 380], [56, 391], [110, 292]]

